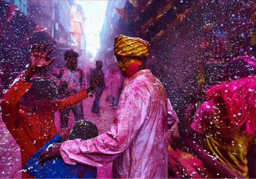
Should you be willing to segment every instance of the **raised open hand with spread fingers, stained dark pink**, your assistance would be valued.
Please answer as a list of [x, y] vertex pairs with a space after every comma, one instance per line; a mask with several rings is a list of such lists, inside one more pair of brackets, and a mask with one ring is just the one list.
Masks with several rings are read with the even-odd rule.
[[30, 66], [31, 68], [34, 68], [35, 70], [39, 70], [41, 68], [47, 67], [50, 64], [53, 63], [53, 61], [56, 59], [53, 57], [51, 60], [47, 61], [47, 57], [52, 51], [54, 50], [51, 48], [49, 51], [44, 53], [46, 48], [49, 46], [48, 43], [44, 45], [44, 47], [40, 50], [42, 43], [40, 42], [38, 45], [34, 44], [31, 47], [31, 53], [30, 53]]

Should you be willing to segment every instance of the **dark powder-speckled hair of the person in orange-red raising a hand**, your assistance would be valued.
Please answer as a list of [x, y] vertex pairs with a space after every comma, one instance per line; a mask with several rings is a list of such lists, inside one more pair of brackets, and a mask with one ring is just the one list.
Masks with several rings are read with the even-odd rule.
[[32, 86], [23, 98], [26, 99], [31, 95], [35, 95], [37, 99], [57, 98], [58, 90], [52, 81], [45, 78], [35, 78], [31, 79], [29, 82], [32, 84]]

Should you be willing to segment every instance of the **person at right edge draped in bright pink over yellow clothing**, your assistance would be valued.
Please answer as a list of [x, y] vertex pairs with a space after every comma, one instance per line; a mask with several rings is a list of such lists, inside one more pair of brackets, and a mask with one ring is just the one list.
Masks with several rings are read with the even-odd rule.
[[222, 80], [196, 111], [187, 145], [203, 161], [207, 177], [249, 178], [247, 153], [256, 158], [256, 60], [231, 60]]

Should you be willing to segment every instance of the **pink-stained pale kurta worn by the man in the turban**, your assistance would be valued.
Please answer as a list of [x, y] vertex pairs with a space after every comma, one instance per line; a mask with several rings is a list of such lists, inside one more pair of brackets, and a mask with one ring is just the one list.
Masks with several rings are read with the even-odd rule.
[[110, 132], [64, 142], [62, 158], [90, 166], [114, 161], [113, 178], [168, 178], [167, 120], [163, 85], [150, 70], [141, 70], [128, 79]]

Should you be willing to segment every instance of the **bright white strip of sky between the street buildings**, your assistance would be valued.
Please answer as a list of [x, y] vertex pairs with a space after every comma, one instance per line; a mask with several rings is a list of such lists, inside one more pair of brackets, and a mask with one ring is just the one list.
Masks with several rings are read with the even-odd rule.
[[84, 8], [86, 51], [90, 51], [94, 57], [100, 48], [100, 32], [108, 0], [75, 0], [75, 3]]

